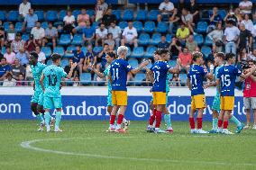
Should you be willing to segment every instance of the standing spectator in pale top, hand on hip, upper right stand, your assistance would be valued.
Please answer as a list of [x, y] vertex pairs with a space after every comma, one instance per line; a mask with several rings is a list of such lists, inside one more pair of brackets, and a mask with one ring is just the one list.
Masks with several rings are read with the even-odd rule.
[[221, 23], [217, 23], [217, 26], [214, 31], [211, 31], [207, 34], [210, 40], [213, 40], [213, 46], [217, 52], [223, 51], [224, 46], [224, 31]]

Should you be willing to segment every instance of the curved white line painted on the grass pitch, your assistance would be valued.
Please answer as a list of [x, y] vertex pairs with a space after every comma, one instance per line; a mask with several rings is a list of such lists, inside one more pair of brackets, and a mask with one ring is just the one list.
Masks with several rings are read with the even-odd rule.
[[[178, 163], [178, 164], [201, 164], [201, 165], [215, 165], [215, 166], [256, 166], [256, 164], [251, 163], [229, 163], [229, 162], [214, 162], [214, 161], [190, 161], [190, 160], [175, 160], [175, 159], [155, 159], [155, 158], [141, 158], [141, 157], [116, 157], [116, 156], [104, 156], [96, 154], [87, 154], [87, 153], [75, 153], [75, 152], [65, 152], [59, 150], [52, 150], [46, 148], [32, 147], [32, 144], [41, 142], [41, 141], [50, 141], [50, 140], [70, 140], [70, 139], [103, 139], [100, 138], [69, 138], [69, 139], [34, 139], [29, 141], [23, 141], [20, 145], [22, 148], [27, 148], [35, 151], [53, 153], [59, 155], [68, 155], [68, 156], [81, 156], [81, 157], [96, 157], [96, 158], [107, 158], [107, 159], [125, 159], [133, 161], [149, 161], [149, 162], [165, 162], [165, 163]], [[114, 137], [112, 137], [114, 138]], [[125, 138], [135, 138], [135, 137], [116, 137], [114, 139], [125, 139]]]

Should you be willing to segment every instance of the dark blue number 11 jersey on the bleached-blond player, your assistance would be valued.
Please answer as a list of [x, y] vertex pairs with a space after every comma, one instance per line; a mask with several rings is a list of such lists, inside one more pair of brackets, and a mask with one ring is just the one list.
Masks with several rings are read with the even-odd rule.
[[127, 91], [127, 74], [133, 69], [124, 59], [115, 59], [110, 65], [110, 74], [112, 77], [112, 90]]

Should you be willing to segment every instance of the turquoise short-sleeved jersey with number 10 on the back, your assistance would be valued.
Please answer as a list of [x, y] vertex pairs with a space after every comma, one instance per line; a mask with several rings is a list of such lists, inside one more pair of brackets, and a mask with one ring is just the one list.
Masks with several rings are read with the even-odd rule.
[[51, 65], [46, 67], [42, 71], [44, 75], [45, 92], [44, 96], [48, 97], [60, 97], [60, 82], [63, 77], [67, 76], [67, 73], [62, 67]]

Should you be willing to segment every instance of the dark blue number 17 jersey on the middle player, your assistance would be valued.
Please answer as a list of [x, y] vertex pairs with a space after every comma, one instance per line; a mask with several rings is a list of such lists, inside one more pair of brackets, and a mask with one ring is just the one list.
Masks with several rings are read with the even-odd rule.
[[169, 64], [166, 61], [157, 61], [151, 67], [154, 75], [152, 92], [166, 92]]

